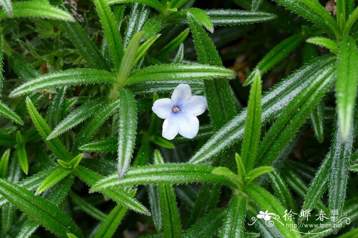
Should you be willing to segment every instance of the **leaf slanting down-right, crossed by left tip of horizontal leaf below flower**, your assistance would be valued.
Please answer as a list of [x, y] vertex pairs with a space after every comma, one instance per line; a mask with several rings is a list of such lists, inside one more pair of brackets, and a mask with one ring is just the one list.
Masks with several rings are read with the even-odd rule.
[[[103, 179], [100, 174], [86, 169], [82, 166], [77, 166], [77, 168], [75, 169], [75, 174], [83, 182], [87, 183], [88, 186], [93, 186], [99, 180]], [[118, 179], [118, 175], [116, 179]], [[122, 189], [105, 189], [102, 190], [101, 193], [108, 198], [116, 201], [117, 203], [121, 204], [122, 206], [136, 211], [137, 213], [150, 215], [148, 209], [143, 206], [142, 203], [140, 203], [137, 199], [133, 198], [129, 193]]]

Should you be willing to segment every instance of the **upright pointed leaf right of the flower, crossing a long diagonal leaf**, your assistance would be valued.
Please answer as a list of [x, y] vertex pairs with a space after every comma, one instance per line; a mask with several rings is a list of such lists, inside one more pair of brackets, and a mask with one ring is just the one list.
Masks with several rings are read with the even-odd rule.
[[253, 169], [256, 160], [261, 137], [261, 114], [261, 75], [256, 71], [254, 84], [250, 90], [248, 115], [241, 147], [241, 161], [247, 172]]

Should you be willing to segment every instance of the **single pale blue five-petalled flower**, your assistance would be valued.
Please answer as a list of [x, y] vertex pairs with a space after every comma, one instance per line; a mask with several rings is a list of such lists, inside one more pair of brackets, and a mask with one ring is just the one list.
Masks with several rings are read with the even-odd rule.
[[197, 116], [203, 114], [208, 104], [204, 96], [192, 96], [188, 84], [176, 86], [171, 98], [161, 98], [154, 102], [152, 110], [163, 123], [162, 136], [172, 140], [179, 133], [192, 139], [199, 130]]

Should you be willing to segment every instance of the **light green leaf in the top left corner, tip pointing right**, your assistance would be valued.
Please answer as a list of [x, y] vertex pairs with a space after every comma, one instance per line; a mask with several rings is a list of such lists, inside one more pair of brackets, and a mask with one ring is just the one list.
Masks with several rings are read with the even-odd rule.
[[[0, 2], [3, 1], [4, 0]], [[5, 0], [5, 2], [8, 1]], [[51, 6], [48, 2], [39, 2], [36, 0], [27, 2], [15, 2], [12, 4], [12, 8], [12, 17], [41, 17], [65, 21], [75, 21], [75, 18], [70, 13]], [[0, 9], [0, 20], [7, 17], [7, 13]]]

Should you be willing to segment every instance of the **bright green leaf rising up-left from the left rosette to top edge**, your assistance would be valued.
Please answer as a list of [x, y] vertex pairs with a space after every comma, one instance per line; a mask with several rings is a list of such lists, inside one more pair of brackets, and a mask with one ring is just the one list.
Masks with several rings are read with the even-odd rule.
[[107, 39], [109, 52], [116, 72], [119, 72], [123, 57], [123, 44], [118, 29], [117, 20], [105, 0], [94, 1], [99, 19], [102, 24], [104, 36]]

